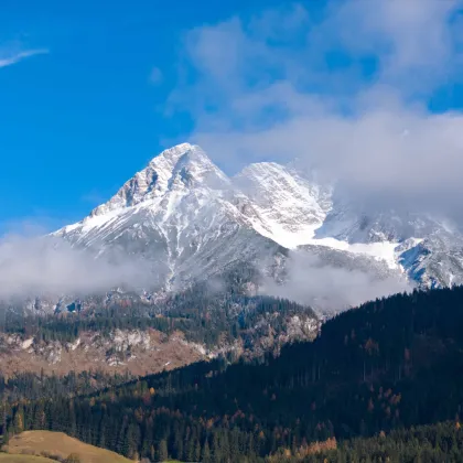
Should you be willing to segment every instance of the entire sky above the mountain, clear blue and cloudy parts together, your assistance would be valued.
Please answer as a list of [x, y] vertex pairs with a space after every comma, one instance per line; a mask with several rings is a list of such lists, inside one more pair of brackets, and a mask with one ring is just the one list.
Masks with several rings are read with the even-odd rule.
[[230, 173], [297, 155], [441, 208], [461, 193], [461, 7], [3, 0], [0, 234], [80, 219], [184, 140]]

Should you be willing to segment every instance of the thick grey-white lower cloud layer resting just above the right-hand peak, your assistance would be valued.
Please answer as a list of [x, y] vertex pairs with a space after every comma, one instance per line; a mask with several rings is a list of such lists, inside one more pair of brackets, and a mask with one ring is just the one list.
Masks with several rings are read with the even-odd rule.
[[[405, 134], [406, 130], [406, 134]], [[299, 158], [373, 206], [455, 214], [463, 195], [463, 116], [366, 111], [295, 116], [271, 128], [196, 133], [224, 160]], [[380, 203], [380, 204], [379, 204]]]

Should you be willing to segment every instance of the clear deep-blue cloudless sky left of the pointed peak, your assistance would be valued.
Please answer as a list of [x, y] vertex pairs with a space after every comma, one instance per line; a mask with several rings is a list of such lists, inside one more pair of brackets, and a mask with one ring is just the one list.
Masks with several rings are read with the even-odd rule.
[[[163, 111], [184, 34], [258, 8], [236, 0], [2, 1], [0, 63], [47, 51], [0, 68], [3, 228], [79, 219], [187, 136], [190, 118]], [[154, 68], [162, 76], [154, 71], [152, 82]]]

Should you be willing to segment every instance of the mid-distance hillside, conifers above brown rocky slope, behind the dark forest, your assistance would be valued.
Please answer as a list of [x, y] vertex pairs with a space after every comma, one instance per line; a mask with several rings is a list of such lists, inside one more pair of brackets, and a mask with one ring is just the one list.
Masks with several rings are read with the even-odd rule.
[[82, 313], [10, 313], [0, 321], [0, 377], [90, 369], [143, 376], [217, 356], [262, 357], [316, 336], [320, 322], [311, 308], [233, 288], [211, 294], [196, 286], [154, 306], [115, 301]]

